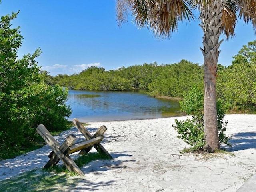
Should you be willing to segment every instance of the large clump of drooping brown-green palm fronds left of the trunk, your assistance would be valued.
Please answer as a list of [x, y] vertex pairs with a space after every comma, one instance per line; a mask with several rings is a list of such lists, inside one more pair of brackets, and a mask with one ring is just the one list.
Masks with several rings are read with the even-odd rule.
[[177, 32], [179, 22], [194, 19], [189, 0], [130, 0], [130, 4], [137, 26], [146, 26], [164, 38]]

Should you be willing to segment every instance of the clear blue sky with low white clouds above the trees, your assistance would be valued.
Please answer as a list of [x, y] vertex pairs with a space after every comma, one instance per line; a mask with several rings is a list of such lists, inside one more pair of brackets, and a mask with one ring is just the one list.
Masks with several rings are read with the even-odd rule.
[[[116, 22], [115, 0], [2, 0], [1, 16], [20, 10], [13, 26], [24, 37], [18, 55], [42, 55], [38, 66], [50, 75], [74, 74], [88, 66], [116, 70], [156, 61], [182, 59], [202, 65], [202, 29], [198, 20], [180, 23], [170, 39], [158, 39], [148, 29], [138, 29], [130, 18], [121, 28]], [[228, 66], [243, 45], [256, 40], [251, 24], [239, 22], [236, 36], [220, 46], [218, 63]]]

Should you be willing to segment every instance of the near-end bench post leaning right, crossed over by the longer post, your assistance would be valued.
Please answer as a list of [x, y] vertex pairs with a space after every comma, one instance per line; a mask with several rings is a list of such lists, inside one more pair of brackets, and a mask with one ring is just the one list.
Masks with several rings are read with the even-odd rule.
[[[70, 134], [62, 143], [62, 145], [60, 146], [60, 151], [66, 155], [67, 154], [67, 149], [69, 146], [71, 146], [75, 141], [76, 141], [76, 136], [73, 134]], [[59, 161], [60, 158], [58, 158], [58, 156], [56, 155], [56, 153], [54, 153], [54, 151], [52, 151], [50, 153], [50, 155], [48, 155], [48, 157], [50, 158], [49, 161], [46, 163], [46, 165], [44, 166], [44, 168], [49, 168], [49, 167], [54, 167]]]

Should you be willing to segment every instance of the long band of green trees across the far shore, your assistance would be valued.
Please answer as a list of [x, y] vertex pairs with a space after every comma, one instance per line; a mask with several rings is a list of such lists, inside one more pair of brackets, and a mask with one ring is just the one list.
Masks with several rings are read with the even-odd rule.
[[90, 67], [71, 76], [57, 75], [53, 82], [81, 90], [144, 89], [152, 96], [182, 97], [182, 92], [189, 90], [192, 84], [202, 81], [202, 77], [202, 67], [181, 60], [177, 64], [158, 66], [154, 62], [110, 71]]

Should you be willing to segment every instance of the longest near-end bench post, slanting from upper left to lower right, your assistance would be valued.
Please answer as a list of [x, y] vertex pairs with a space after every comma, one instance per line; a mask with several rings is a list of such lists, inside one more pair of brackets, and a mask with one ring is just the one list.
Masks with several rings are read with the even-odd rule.
[[44, 127], [43, 124], [38, 125], [36, 128], [37, 132], [42, 136], [45, 142], [52, 148], [54, 153], [62, 160], [66, 168], [68, 168], [71, 172], [76, 172], [81, 176], [84, 176], [84, 173], [80, 170], [80, 168], [76, 165], [76, 163], [70, 158], [68, 155], [64, 155], [60, 150], [60, 145], [58, 142], [52, 137], [50, 132]]

